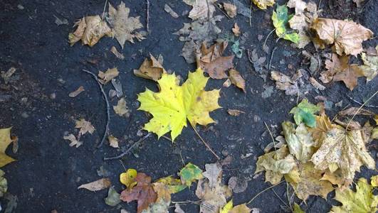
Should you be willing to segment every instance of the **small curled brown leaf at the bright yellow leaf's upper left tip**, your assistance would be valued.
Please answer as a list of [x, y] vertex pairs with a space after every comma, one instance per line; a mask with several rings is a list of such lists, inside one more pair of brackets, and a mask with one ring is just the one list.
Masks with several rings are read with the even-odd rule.
[[162, 64], [156, 60], [153, 55], [149, 54], [149, 58], [145, 58], [139, 70], [134, 70], [134, 75], [156, 82], [162, 77], [162, 74], [167, 73], [167, 71], [164, 70]]

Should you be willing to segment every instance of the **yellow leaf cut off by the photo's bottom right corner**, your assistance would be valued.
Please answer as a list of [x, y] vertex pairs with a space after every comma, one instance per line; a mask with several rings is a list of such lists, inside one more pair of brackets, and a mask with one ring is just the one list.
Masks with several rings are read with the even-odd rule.
[[378, 195], [374, 195], [373, 190], [365, 178], [359, 178], [356, 192], [349, 188], [336, 190], [335, 200], [342, 206], [332, 206], [330, 212], [377, 212]]

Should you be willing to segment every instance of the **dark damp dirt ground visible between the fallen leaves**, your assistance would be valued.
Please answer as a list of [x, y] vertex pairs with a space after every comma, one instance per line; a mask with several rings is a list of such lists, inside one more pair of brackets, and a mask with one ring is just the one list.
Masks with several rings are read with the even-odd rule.
[[[90, 192], [78, 190], [78, 186], [98, 180], [100, 167], [107, 170], [107, 176], [120, 192], [123, 187], [119, 182], [119, 174], [125, 168], [135, 168], [140, 172], [152, 176], [152, 180], [167, 175], [177, 177], [177, 172], [184, 163], [194, 163], [204, 169], [206, 163], [214, 163], [216, 158], [196, 136], [190, 127], [185, 128], [175, 143], [165, 138], [157, 140], [152, 135], [141, 146], [120, 160], [107, 160], [104, 157], [118, 155], [122, 148], [130, 147], [132, 143], [145, 135], [141, 131], [143, 124], [149, 116], [143, 111], [137, 111], [139, 103], [137, 94], [145, 88], [157, 91], [157, 84], [133, 75], [132, 70], [137, 69], [143, 60], [152, 55], [161, 54], [164, 58], [164, 68], [172, 70], [183, 79], [187, 78], [189, 70], [195, 70], [195, 64], [188, 64], [180, 56], [183, 42], [172, 33], [182, 28], [183, 23], [191, 20], [182, 16], [190, 7], [182, 1], [150, 1], [149, 30], [146, 40], [135, 44], [126, 43], [122, 54], [125, 60], [120, 60], [110, 52], [114, 45], [121, 51], [117, 40], [102, 38], [93, 48], [76, 43], [72, 47], [68, 44], [68, 33], [73, 31], [73, 23], [83, 16], [101, 14], [105, 1], [9, 1], [0, 2], [0, 70], [16, 67], [16, 72], [8, 84], [0, 82], [0, 128], [13, 126], [12, 133], [19, 137], [19, 151], [7, 153], [17, 161], [1, 168], [5, 171], [8, 180], [8, 191], [18, 198], [15, 212], [120, 212], [120, 209], [109, 207], [104, 198], [107, 190]], [[240, 0], [247, 8], [250, 2]], [[120, 1], [110, 1], [113, 5]], [[140, 16], [146, 26], [145, 1], [124, 1], [130, 7], [130, 16]], [[223, 2], [223, 1], [219, 1]], [[285, 1], [278, 1], [283, 4]], [[318, 1], [316, 2], [319, 3]], [[180, 16], [172, 18], [164, 11], [164, 4], [169, 4]], [[362, 8], [357, 9], [349, 0], [321, 1], [322, 17], [351, 19], [371, 29], [374, 35], [378, 34], [378, 1], [367, 0]], [[271, 127], [274, 136], [281, 131], [280, 123], [291, 120], [288, 114], [296, 105], [297, 97], [285, 95], [284, 92], [274, 89], [271, 97], [261, 97], [264, 87], [274, 86], [274, 82], [261, 78], [261, 74], [253, 69], [248, 61], [246, 50], [256, 49], [257, 53], [271, 58], [271, 50], [276, 47], [271, 66], [286, 75], [300, 69], [308, 69], [303, 62], [302, 50], [293, 48], [285, 40], [276, 43], [276, 36], [267, 39], [268, 53], [262, 50], [263, 40], [272, 31], [271, 13], [252, 7], [251, 26], [249, 18], [238, 14], [236, 18], [224, 17], [218, 26], [224, 33], [231, 33], [233, 23], [237, 22], [242, 33], [248, 33], [243, 42], [242, 58], [235, 58], [236, 70], [246, 79], [246, 94], [236, 87], [222, 87], [224, 80], [209, 80], [206, 89], [221, 89], [219, 104], [221, 109], [211, 112], [216, 124], [197, 126], [197, 131], [209, 143], [214, 151], [225, 158], [231, 156], [231, 164], [224, 166], [223, 182], [236, 176], [248, 180], [245, 192], [233, 194], [233, 203], [248, 202], [254, 195], [270, 186], [264, 182], [264, 175], [254, 175], [256, 160], [263, 154], [263, 148], [271, 142], [271, 136], [264, 122]], [[217, 15], [222, 15], [216, 9]], [[68, 20], [67, 25], [56, 25], [56, 17]], [[273, 33], [274, 34], [274, 33]], [[259, 40], [258, 35], [263, 39]], [[260, 36], [261, 37], [261, 36]], [[377, 45], [377, 39], [364, 42], [364, 47]], [[312, 45], [306, 47], [310, 53], [315, 53]], [[231, 48], [226, 55], [231, 54]], [[358, 60], [357, 60], [358, 61]], [[99, 70], [117, 67], [120, 71], [118, 79], [122, 82], [127, 106], [130, 108], [130, 117], [122, 118], [114, 111], [111, 113], [110, 133], [120, 138], [121, 149], [112, 148], [104, 144], [96, 148], [96, 144], [103, 136], [105, 129], [106, 110], [103, 96], [98, 84], [83, 69], [98, 73]], [[263, 75], [268, 75], [264, 71]], [[334, 105], [327, 109], [332, 117], [343, 107], [359, 105], [349, 97], [363, 102], [376, 90], [378, 79], [368, 84], [365, 79], [359, 78], [359, 85], [350, 92], [342, 82], [327, 84], [327, 89], [316, 91], [311, 89], [299, 99], [308, 98], [317, 102], [315, 97], [324, 96]], [[78, 87], [83, 86], [85, 92], [78, 97], [68, 97]], [[111, 84], [104, 87], [108, 93]], [[342, 101], [342, 107], [335, 107], [335, 103]], [[110, 99], [112, 106], [117, 99]], [[375, 97], [369, 103], [378, 106]], [[230, 116], [227, 109], [245, 111], [241, 116]], [[378, 108], [368, 108], [378, 113]], [[68, 146], [63, 136], [75, 131], [75, 119], [86, 119], [95, 126], [95, 132], [86, 134], [81, 139], [84, 142], [79, 148]], [[373, 158], [377, 159], [377, 144], [369, 146]], [[371, 170], [362, 167], [357, 177], [370, 176]], [[172, 195], [172, 201], [198, 200], [195, 195], [196, 186]], [[307, 204], [295, 199], [306, 212], [328, 212], [332, 204], [337, 204], [332, 197], [335, 192], [328, 195], [327, 200], [311, 196]], [[6, 207], [6, 200], [0, 200], [1, 206]], [[249, 207], [256, 207], [262, 212], [284, 212], [287, 202], [286, 185], [282, 183], [273, 190], [268, 190], [256, 198]], [[136, 202], [122, 202], [123, 209], [136, 212]], [[185, 212], [198, 212], [196, 204], [183, 204]], [[170, 209], [174, 212], [174, 208]]]

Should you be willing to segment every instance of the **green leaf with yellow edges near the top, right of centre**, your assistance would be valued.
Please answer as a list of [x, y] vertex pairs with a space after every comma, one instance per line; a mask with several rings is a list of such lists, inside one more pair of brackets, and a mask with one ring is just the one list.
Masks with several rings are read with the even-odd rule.
[[288, 15], [288, 8], [286, 5], [277, 5], [277, 9], [273, 11], [272, 21], [275, 27], [275, 34], [280, 38], [290, 40], [293, 43], [299, 42], [298, 33], [291, 33], [290, 28], [288, 28], [288, 23], [290, 18], [293, 16]]

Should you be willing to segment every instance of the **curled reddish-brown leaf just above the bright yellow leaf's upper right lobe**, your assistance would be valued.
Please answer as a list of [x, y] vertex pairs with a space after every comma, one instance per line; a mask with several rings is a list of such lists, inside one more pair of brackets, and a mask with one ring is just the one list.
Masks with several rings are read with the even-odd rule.
[[[222, 56], [228, 43], [216, 43], [206, 48], [206, 43], [202, 43], [201, 54], [199, 55], [199, 67], [207, 72], [211, 78], [226, 78], [226, 71], [233, 67], [233, 55]], [[232, 80], [231, 80], [232, 82]]]

